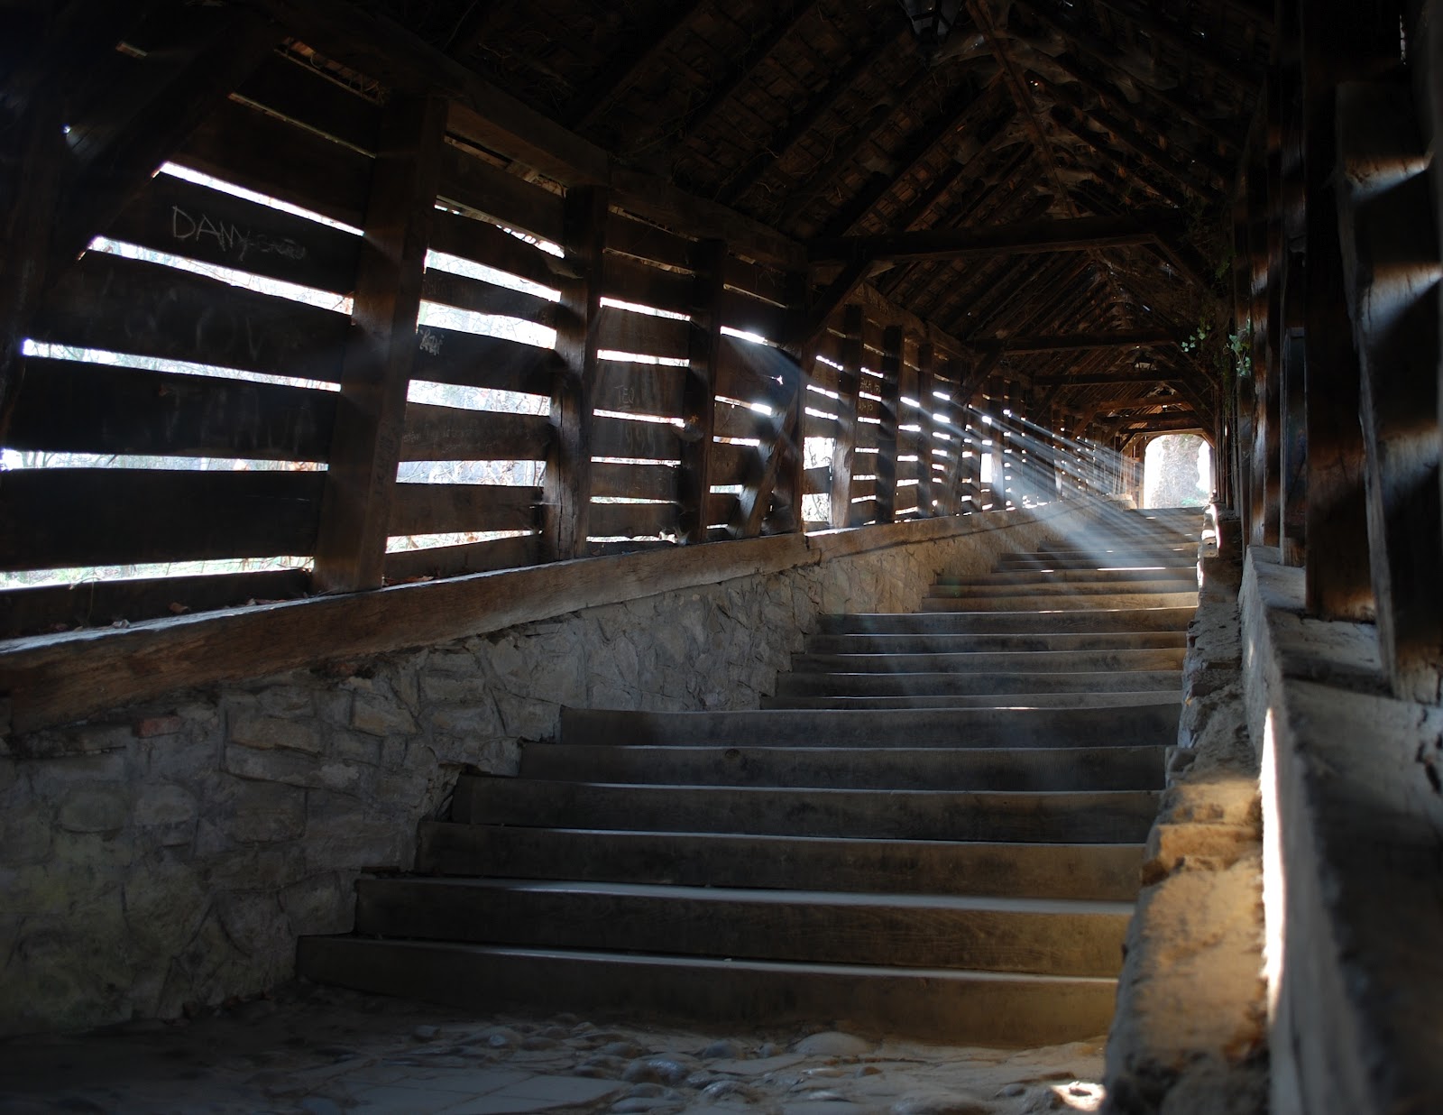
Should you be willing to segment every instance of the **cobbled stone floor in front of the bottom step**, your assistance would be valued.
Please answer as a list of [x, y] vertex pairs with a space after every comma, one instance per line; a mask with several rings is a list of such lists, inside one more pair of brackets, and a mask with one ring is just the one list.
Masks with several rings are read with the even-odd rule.
[[1097, 1111], [1101, 1072], [1101, 1038], [990, 1050], [642, 1028], [296, 984], [189, 1021], [3, 1041], [0, 1112], [1023, 1115]]

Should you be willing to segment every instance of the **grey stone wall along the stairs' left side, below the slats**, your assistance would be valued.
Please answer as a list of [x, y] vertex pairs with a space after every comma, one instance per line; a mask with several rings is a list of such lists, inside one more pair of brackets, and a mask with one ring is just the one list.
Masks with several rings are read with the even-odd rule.
[[[807, 559], [776, 572], [504, 630], [478, 622], [442, 646], [12, 737], [0, 750], [0, 1033], [255, 995], [291, 975], [299, 934], [351, 927], [358, 872], [411, 865], [417, 823], [444, 809], [460, 771], [514, 773], [521, 744], [551, 738], [563, 705], [756, 708], [818, 615], [911, 611], [944, 569], [987, 570], [1076, 514], [1056, 504], [921, 533], [792, 537]], [[597, 560], [623, 570], [631, 559]], [[224, 620], [209, 637], [225, 638]]]

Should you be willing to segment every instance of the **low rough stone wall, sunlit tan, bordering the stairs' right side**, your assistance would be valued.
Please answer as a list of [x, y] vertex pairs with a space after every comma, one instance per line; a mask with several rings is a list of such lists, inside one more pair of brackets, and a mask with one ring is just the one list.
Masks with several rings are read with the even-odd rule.
[[1214, 511], [1188, 630], [1179, 747], [1147, 841], [1107, 1046], [1113, 1115], [1263, 1115], [1263, 816], [1248, 731], [1238, 520]]

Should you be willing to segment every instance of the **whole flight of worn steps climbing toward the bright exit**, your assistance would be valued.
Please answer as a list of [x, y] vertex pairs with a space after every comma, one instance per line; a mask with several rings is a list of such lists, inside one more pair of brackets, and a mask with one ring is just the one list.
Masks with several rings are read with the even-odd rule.
[[1102, 1033], [1179, 713], [1201, 514], [835, 615], [771, 708], [571, 709], [463, 777], [300, 973], [459, 1005]]

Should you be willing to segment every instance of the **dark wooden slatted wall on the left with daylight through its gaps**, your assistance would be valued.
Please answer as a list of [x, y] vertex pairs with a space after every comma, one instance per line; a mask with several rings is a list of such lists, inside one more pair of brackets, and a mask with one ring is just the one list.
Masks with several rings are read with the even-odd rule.
[[[30, 337], [59, 351], [27, 358], [4, 442], [26, 459], [88, 455], [87, 467], [0, 478], [0, 572], [310, 559], [317, 539], [367, 549], [351, 568], [391, 582], [485, 572], [557, 556], [558, 491], [582, 527], [576, 553], [964, 506], [964, 443], [925, 413], [941, 400], [921, 412], [898, 402], [957, 383], [915, 319], [889, 318], [869, 296], [840, 308], [798, 360], [781, 342], [807, 298], [799, 272], [758, 261], [745, 244], [658, 227], [626, 208], [648, 208], [626, 191], [596, 189], [592, 235], [577, 238], [569, 221], [580, 192], [518, 178], [453, 139], [437, 144], [434, 131], [431, 172], [407, 179], [387, 169], [404, 147], [388, 103], [276, 53], [172, 160], [322, 220], [162, 173], [97, 230], [123, 247], [85, 253], [43, 300]], [[387, 194], [407, 182], [424, 196]], [[364, 334], [377, 322], [367, 302], [377, 260], [356, 230], [387, 212], [410, 212], [421, 243], [462, 264], [423, 269], [413, 257], [403, 306], [421, 308], [414, 350], [404, 309], [387, 325], [400, 338], [387, 390], [427, 384], [414, 397], [429, 402], [374, 409], [369, 459], [401, 462], [403, 480], [382, 482], [372, 521], [391, 546], [421, 546], [380, 553], [377, 530], [336, 543], [323, 521], [339, 498], [328, 490], [359, 459], [343, 412], [372, 390], [364, 348], [375, 337]], [[371, 309], [354, 311], [352, 298]], [[587, 306], [595, 321], [579, 334], [573, 315]], [[537, 345], [537, 328], [563, 339]], [[885, 331], [898, 350], [887, 380]], [[579, 412], [563, 413], [577, 400]], [[808, 442], [815, 459], [804, 461]], [[576, 452], [584, 467], [564, 464]], [[88, 467], [92, 458], [147, 459]], [[407, 482], [413, 462], [452, 462], [433, 475], [472, 480]], [[494, 482], [502, 474], [515, 480]], [[325, 560], [339, 568], [329, 549]], [[84, 609], [55, 589], [0, 592], [0, 637], [310, 589], [302, 569], [117, 585], [92, 591]]]

